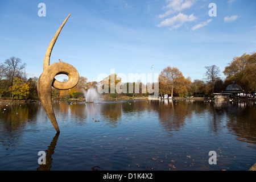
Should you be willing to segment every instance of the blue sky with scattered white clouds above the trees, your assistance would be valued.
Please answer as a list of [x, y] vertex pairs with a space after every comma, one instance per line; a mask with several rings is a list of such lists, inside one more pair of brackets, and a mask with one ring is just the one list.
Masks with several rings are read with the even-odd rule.
[[[39, 3], [46, 16], [38, 16]], [[210, 3], [217, 16], [209, 16]], [[255, 0], [1, 0], [0, 63], [19, 57], [28, 78], [39, 77], [48, 44], [71, 13], [50, 64], [61, 59], [89, 81], [110, 69], [128, 76], [167, 66], [193, 81], [213, 64], [224, 78], [233, 57], [256, 51], [255, 9]]]

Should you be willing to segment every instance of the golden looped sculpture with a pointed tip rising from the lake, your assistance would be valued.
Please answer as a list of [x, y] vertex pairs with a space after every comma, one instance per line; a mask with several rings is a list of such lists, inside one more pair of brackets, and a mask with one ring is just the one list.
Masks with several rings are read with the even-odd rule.
[[[61, 24], [60, 28], [57, 30], [55, 36], [53, 36], [53, 39], [51, 40], [51, 43], [47, 48], [46, 55], [44, 56], [43, 73], [38, 80], [39, 98], [57, 133], [60, 132], [60, 129], [57, 124], [55, 113], [52, 106], [52, 100], [51, 100], [52, 86], [56, 89], [67, 90], [75, 87], [79, 81], [79, 72], [77, 72], [76, 68], [73, 67], [71, 64], [58, 62], [58, 63], [53, 63], [49, 65], [49, 59], [51, 56], [52, 48], [60, 34], [61, 29], [63, 28], [64, 24], [67, 22], [70, 15], [71, 14], [69, 14], [68, 17]], [[67, 75], [68, 81], [60, 82], [55, 80], [54, 77], [60, 74]]]

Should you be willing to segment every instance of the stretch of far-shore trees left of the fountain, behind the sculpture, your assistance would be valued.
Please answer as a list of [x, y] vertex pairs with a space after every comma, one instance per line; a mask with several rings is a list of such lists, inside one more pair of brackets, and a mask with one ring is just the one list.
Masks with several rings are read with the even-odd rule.
[[[87, 78], [80, 77], [79, 83], [70, 90], [58, 90], [52, 87], [53, 98], [83, 97], [83, 90], [96, 86], [97, 82], [88, 82]], [[63, 80], [67, 81], [67, 80]], [[26, 63], [18, 57], [10, 57], [0, 63], [0, 98], [11, 100], [39, 100], [38, 77], [27, 78]]]

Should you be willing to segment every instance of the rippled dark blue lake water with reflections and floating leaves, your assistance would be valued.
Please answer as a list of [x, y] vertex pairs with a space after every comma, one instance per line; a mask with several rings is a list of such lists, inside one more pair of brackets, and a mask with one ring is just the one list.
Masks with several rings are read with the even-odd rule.
[[60, 134], [39, 103], [0, 104], [0, 170], [248, 170], [256, 163], [255, 101], [53, 107]]

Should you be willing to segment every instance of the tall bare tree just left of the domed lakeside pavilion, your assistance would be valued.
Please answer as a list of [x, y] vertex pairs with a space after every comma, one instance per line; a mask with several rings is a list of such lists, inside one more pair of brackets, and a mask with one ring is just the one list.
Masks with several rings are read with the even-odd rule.
[[220, 77], [218, 77], [220, 75], [220, 69], [216, 65], [211, 65], [209, 67], [206, 66], [204, 68], [207, 69], [207, 72], [205, 73], [207, 83], [211, 86], [212, 93], [214, 93], [216, 81], [220, 79]]

